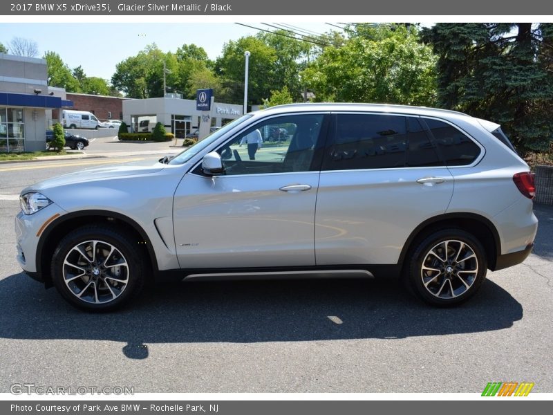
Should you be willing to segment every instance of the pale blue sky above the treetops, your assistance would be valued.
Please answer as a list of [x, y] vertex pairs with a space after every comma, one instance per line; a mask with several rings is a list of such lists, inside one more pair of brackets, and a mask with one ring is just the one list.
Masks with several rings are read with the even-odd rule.
[[[270, 21], [267, 21], [269, 24]], [[248, 26], [274, 30], [261, 23]], [[293, 26], [315, 33], [339, 30], [324, 22], [294, 21]], [[196, 44], [210, 59], [221, 55], [223, 45], [259, 30], [230, 22], [221, 23], [4, 23], [0, 22], [0, 42], [8, 48], [13, 37], [37, 42], [39, 55], [58, 53], [73, 69], [82, 66], [87, 76], [111, 80], [115, 65], [155, 43], [164, 52], [175, 52], [182, 44]]]

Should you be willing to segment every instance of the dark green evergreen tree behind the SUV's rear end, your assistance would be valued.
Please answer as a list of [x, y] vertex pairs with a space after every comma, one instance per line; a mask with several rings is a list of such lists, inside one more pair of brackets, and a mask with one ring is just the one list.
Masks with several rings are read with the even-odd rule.
[[438, 104], [502, 125], [518, 150], [552, 145], [553, 25], [436, 24]]

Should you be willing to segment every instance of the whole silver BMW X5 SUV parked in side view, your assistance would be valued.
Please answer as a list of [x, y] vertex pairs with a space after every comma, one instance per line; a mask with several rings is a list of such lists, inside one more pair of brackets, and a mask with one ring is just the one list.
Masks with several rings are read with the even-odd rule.
[[[269, 140], [275, 129], [284, 139]], [[79, 308], [160, 277], [402, 275], [448, 306], [523, 261], [533, 176], [498, 124], [439, 109], [293, 104], [146, 165], [21, 192], [17, 259]]]

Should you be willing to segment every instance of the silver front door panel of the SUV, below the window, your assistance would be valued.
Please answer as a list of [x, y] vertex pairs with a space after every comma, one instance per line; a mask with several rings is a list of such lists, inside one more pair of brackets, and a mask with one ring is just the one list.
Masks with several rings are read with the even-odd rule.
[[[319, 172], [218, 176], [187, 174], [174, 199], [181, 268], [315, 265]], [[281, 187], [308, 185], [285, 192]]]

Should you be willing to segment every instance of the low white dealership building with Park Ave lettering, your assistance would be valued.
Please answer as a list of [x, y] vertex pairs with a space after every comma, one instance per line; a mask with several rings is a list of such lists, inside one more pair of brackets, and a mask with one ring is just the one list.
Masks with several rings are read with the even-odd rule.
[[200, 120], [208, 118], [214, 127], [221, 127], [229, 120], [242, 116], [241, 105], [214, 102], [210, 111], [196, 109], [196, 100], [183, 100], [179, 94], [165, 95], [165, 98], [147, 98], [145, 100], [125, 100], [123, 104], [123, 121], [130, 126], [129, 131], [152, 131], [157, 122], [174, 133], [177, 138], [184, 138], [187, 133], [200, 127]]

